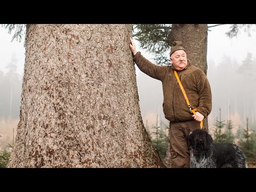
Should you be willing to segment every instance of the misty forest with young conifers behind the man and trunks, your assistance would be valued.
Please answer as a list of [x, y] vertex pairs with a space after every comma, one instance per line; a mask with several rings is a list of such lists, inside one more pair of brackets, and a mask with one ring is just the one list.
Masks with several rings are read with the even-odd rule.
[[[141, 47], [137, 47], [137, 50], [140, 51]], [[249, 162], [255, 164], [256, 59], [252, 57], [250, 51], [248, 50], [247, 56], [241, 63], [225, 54], [221, 63], [208, 60], [207, 77], [211, 84], [213, 101], [213, 109], [208, 121], [209, 133], [215, 141], [231, 141], [242, 146]], [[0, 70], [2, 154], [10, 152], [19, 123], [22, 75], [17, 73], [17, 63], [18, 60], [13, 55], [6, 65], [7, 73]], [[164, 159], [169, 121], [164, 118], [162, 110], [162, 84], [135, 67], [143, 123], [161, 159]]]

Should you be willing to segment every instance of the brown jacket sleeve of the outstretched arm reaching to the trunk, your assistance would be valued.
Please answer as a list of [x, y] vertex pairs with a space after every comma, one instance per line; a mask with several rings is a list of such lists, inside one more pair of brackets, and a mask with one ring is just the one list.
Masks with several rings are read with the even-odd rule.
[[133, 61], [143, 73], [155, 79], [161, 80], [166, 72], [164, 66], [157, 66], [154, 63], [151, 63], [141, 55], [141, 52], [137, 52], [137, 54], [134, 55]]

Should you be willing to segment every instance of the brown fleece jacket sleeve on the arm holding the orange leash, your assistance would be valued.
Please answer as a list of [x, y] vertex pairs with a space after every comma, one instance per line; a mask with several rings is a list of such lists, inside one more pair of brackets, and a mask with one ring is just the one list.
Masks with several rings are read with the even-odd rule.
[[203, 71], [197, 78], [197, 87], [199, 94], [199, 106], [196, 111], [206, 117], [212, 110], [212, 93], [210, 83]]

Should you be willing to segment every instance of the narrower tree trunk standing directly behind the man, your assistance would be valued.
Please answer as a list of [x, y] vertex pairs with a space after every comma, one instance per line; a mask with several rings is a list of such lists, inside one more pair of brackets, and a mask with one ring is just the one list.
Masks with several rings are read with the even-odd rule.
[[[173, 24], [170, 38], [173, 41], [181, 41], [185, 47], [188, 59], [197, 68], [207, 74], [207, 24]], [[208, 118], [203, 120], [208, 131]], [[166, 167], [171, 165], [170, 146], [164, 159]]]

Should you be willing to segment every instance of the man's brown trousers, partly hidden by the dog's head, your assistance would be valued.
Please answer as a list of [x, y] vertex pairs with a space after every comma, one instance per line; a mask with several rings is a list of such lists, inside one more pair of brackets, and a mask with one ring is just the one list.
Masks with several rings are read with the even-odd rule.
[[190, 131], [200, 128], [200, 122], [191, 120], [170, 123], [169, 142], [172, 168], [189, 168], [190, 155], [186, 137]]

